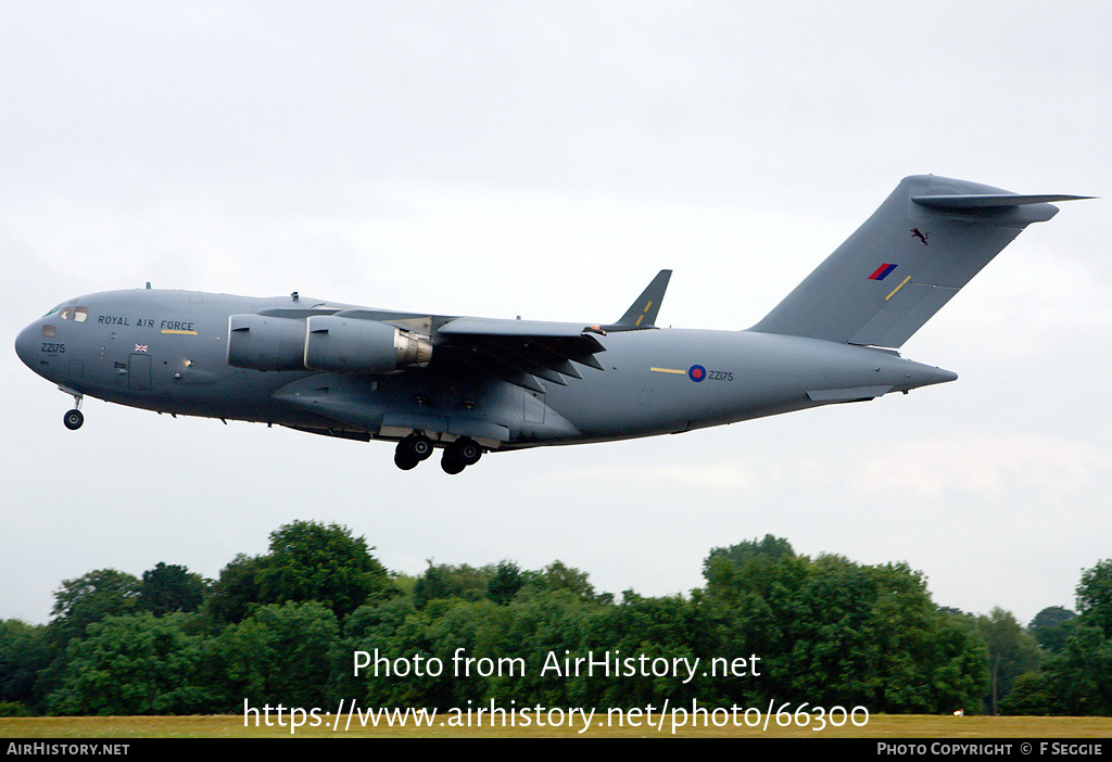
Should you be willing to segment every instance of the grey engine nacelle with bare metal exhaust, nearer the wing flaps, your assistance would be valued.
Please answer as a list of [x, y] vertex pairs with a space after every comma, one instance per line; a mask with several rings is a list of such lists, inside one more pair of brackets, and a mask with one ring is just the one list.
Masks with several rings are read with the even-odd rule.
[[433, 357], [427, 337], [376, 320], [314, 315], [305, 334], [305, 367], [337, 373], [388, 373], [426, 365]]

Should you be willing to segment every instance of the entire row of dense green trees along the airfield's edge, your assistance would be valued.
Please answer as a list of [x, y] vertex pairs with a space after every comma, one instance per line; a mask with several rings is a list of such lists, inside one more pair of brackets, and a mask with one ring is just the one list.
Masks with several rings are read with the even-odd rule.
[[1000, 609], [937, 606], [904, 563], [812, 559], [771, 535], [713, 549], [687, 595], [617, 600], [559, 561], [429, 561], [414, 578], [373, 550], [345, 527], [298, 521], [216, 580], [166, 563], [66, 580], [47, 624], [0, 622], [0, 714], [239, 713], [245, 700], [327, 711], [340, 699], [1112, 714], [1112, 561], [1083, 574], [1079, 613], [1054, 606], [1022, 626]]

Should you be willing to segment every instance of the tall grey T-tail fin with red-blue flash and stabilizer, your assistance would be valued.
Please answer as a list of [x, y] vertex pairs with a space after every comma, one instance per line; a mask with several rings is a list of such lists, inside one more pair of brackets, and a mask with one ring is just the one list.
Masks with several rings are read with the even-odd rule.
[[964, 180], [904, 178], [868, 220], [752, 331], [897, 348], [1050, 201]]

